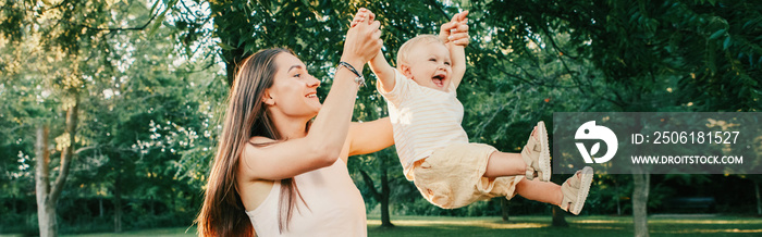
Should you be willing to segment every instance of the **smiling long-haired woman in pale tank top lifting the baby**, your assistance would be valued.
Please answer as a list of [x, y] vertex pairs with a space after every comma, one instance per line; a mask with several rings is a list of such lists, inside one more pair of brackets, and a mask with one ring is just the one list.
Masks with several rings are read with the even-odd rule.
[[365, 9], [346, 35], [323, 104], [320, 80], [293, 52], [267, 49], [241, 65], [224, 118], [199, 236], [366, 236], [365, 203], [349, 155], [393, 144], [389, 118], [352, 123], [361, 73], [381, 48]]

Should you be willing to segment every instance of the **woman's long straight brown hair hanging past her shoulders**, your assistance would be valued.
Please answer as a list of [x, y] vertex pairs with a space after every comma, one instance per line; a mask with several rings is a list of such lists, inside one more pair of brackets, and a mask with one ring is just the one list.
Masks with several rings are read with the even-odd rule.
[[[267, 104], [262, 102], [262, 96], [272, 86], [278, 72], [275, 57], [284, 52], [294, 54], [287, 49], [265, 49], [241, 64], [228, 98], [228, 111], [204, 205], [196, 219], [199, 236], [254, 236], [254, 227], [237, 191], [236, 171], [238, 158], [251, 137], [282, 140]], [[288, 228], [293, 208], [296, 207], [295, 195], [302, 198], [294, 179], [282, 179], [278, 216], [281, 233]]]

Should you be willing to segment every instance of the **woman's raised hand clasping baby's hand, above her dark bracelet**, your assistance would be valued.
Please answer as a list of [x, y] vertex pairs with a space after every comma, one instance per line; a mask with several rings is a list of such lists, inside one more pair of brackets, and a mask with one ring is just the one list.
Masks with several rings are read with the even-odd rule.
[[381, 23], [376, 21], [372, 12], [360, 8], [352, 25], [346, 33], [342, 61], [352, 64], [355, 68], [362, 68], [364, 64], [370, 61], [383, 46], [379, 28]]

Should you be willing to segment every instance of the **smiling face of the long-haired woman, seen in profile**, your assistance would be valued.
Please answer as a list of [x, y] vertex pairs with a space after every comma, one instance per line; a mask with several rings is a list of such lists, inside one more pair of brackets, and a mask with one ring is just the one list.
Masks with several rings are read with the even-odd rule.
[[278, 71], [272, 87], [267, 89], [266, 103], [286, 116], [317, 115], [322, 107], [317, 96], [320, 80], [309, 75], [302, 60], [291, 53], [278, 54], [275, 65]]

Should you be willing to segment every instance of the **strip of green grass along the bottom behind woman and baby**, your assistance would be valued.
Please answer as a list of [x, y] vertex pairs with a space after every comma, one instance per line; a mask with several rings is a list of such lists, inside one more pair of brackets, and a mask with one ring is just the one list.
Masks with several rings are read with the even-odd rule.
[[[550, 216], [500, 217], [392, 216], [393, 228], [380, 227], [379, 216], [368, 216], [368, 236], [632, 236], [631, 216], [567, 216], [569, 227], [552, 227]], [[761, 217], [723, 215], [653, 215], [652, 236], [762, 236]], [[186, 227], [156, 228], [120, 234], [99, 233], [63, 236], [195, 236]], [[0, 235], [2, 236], [2, 235]]]

